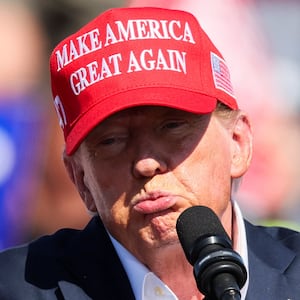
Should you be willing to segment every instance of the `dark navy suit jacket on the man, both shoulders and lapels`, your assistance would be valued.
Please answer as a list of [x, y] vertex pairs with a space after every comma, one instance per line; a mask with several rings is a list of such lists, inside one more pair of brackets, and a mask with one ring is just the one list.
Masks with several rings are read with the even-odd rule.
[[[247, 300], [300, 299], [300, 234], [246, 222]], [[98, 217], [0, 254], [1, 300], [134, 300]]]

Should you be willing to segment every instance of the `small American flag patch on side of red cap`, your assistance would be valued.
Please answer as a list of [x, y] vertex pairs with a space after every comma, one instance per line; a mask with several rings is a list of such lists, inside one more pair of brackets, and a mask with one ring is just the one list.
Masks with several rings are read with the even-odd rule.
[[215, 87], [235, 98], [226, 62], [218, 55], [211, 52], [211, 66]]

